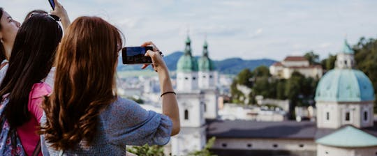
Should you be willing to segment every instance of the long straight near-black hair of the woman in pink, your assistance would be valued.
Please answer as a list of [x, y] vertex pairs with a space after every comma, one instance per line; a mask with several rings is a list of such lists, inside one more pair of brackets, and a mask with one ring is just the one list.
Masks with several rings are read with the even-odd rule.
[[11, 128], [30, 120], [27, 104], [31, 87], [47, 77], [62, 36], [59, 24], [46, 15], [30, 17], [18, 30], [0, 85], [0, 97], [10, 93], [4, 113]]

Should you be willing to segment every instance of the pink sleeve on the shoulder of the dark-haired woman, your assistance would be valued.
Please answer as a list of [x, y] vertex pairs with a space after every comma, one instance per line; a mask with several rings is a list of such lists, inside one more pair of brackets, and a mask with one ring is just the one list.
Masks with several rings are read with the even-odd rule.
[[31, 89], [28, 109], [38, 122], [40, 122], [40, 118], [43, 116], [42, 102], [45, 100], [45, 96], [50, 95], [51, 92], [51, 87], [43, 82], [34, 84]]

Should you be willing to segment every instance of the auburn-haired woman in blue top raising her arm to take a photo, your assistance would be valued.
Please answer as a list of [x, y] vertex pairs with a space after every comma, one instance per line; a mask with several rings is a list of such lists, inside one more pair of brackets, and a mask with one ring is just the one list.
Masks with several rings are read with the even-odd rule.
[[158, 72], [163, 114], [117, 97], [121, 45], [119, 30], [99, 17], [79, 17], [66, 31], [55, 60], [55, 88], [43, 104], [43, 155], [126, 155], [126, 145], [164, 145], [179, 132], [168, 68], [152, 42], [142, 46], [154, 47], [146, 55]]

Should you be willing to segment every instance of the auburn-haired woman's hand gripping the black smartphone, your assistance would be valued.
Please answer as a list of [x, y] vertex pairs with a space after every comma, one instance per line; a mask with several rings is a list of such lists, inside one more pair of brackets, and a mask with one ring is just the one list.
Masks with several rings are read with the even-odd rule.
[[[168, 67], [165, 65], [165, 61], [163, 61], [163, 56], [161, 55], [160, 50], [158, 50], [158, 48], [156, 47], [156, 45], [153, 44], [153, 42], [150, 42], [150, 41], [145, 42], [141, 46], [142, 47], [147, 47], [147, 46], [153, 47], [153, 51], [148, 50], [145, 53], [145, 56], [151, 57], [151, 60], [152, 60], [151, 65], [152, 65], [152, 68], [154, 69], [154, 71], [160, 72], [160, 71], [168, 70]], [[149, 64], [142, 65], [142, 69], [147, 68], [148, 65]]]

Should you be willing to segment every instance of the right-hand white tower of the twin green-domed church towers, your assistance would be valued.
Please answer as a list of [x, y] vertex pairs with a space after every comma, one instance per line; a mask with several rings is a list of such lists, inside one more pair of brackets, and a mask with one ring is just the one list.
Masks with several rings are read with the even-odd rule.
[[214, 67], [214, 63], [209, 59], [207, 40], [203, 45], [202, 56], [198, 61], [198, 78], [199, 88], [204, 93], [205, 100], [202, 102], [204, 106], [205, 118], [215, 119], [217, 118], [219, 111], [217, 105], [217, 98], [219, 93], [217, 90], [217, 72]]

